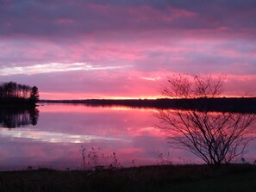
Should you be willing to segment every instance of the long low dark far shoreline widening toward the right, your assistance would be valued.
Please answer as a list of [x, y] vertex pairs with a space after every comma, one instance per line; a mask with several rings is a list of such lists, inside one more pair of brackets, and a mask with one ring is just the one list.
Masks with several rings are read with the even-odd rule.
[[88, 99], [42, 100], [41, 102], [84, 103], [89, 106], [127, 106], [134, 108], [180, 108], [219, 112], [256, 113], [256, 97], [197, 98], [197, 99]]

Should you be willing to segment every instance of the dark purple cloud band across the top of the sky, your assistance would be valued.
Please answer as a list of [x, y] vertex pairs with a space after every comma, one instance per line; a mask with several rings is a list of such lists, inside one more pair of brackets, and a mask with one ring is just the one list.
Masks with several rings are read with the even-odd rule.
[[[109, 32], [183, 31], [227, 28], [221, 33], [255, 30], [253, 1], [2, 1], [1, 36], [78, 38]], [[234, 22], [237, 21], [237, 22]]]

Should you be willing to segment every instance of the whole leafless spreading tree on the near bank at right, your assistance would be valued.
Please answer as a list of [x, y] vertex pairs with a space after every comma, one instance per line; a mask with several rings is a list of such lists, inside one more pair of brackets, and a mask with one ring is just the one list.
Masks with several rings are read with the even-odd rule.
[[213, 166], [243, 155], [253, 139], [255, 115], [210, 110], [212, 98], [222, 93], [223, 82], [223, 77], [168, 77], [161, 92], [178, 99], [178, 106], [157, 113], [156, 127], [169, 134], [173, 147], [188, 150]]

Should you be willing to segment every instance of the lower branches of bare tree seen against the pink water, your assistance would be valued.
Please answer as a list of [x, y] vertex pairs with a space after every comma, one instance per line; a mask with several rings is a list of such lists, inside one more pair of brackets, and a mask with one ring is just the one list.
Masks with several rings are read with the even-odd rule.
[[172, 147], [185, 149], [213, 166], [230, 164], [247, 152], [256, 115], [208, 110], [159, 110], [159, 129]]

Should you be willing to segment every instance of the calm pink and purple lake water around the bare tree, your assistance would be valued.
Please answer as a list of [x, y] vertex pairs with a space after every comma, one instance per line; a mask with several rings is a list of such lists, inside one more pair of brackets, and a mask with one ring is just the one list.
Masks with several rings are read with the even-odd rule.
[[[167, 135], [153, 127], [158, 122], [153, 109], [45, 104], [38, 110], [1, 112], [0, 170], [82, 169], [116, 160], [122, 166], [202, 163], [168, 146]], [[255, 146], [246, 159], [255, 159]]]

